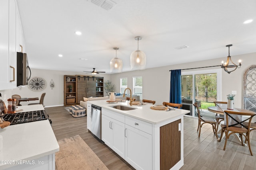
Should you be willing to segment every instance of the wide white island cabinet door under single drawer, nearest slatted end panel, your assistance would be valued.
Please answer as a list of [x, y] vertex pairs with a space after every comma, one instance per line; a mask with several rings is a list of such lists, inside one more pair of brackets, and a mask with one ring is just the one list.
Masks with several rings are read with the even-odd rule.
[[152, 135], [125, 125], [125, 160], [136, 170], [152, 170]]

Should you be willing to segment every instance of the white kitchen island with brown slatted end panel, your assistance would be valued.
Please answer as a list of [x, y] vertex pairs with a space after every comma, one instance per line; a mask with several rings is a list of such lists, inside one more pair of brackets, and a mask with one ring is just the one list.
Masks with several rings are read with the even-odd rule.
[[[183, 166], [183, 116], [188, 110], [154, 110], [151, 104], [129, 106], [129, 101], [88, 101], [88, 130], [94, 125], [92, 104], [101, 107], [101, 140], [134, 168], [176, 170]], [[110, 107], [116, 105], [132, 110]]]

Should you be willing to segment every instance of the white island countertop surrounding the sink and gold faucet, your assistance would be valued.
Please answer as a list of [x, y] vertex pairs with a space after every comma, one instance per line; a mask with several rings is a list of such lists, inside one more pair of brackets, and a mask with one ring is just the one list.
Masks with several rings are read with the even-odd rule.
[[[190, 113], [189, 110], [184, 110], [184, 109], [175, 109], [170, 111], [153, 110], [153, 109], [150, 109], [150, 106], [154, 106], [152, 104], [141, 105], [141, 106], [136, 106], [136, 105], [130, 106], [129, 102], [130, 101], [108, 103], [106, 102], [106, 100], [87, 101], [88, 104], [94, 104], [96, 106], [100, 106], [102, 108], [112, 110], [117, 113], [121, 113], [130, 117], [134, 117], [136, 119], [140, 119], [142, 121], [146, 121], [152, 124], [162, 123], [164, 121], [168, 121], [170, 119], [180, 117], [180, 115], [185, 115], [186, 113]], [[119, 110], [119, 109], [109, 107], [114, 105], [124, 105], [124, 106], [134, 107], [136, 109], [124, 111], [124, 110]]]

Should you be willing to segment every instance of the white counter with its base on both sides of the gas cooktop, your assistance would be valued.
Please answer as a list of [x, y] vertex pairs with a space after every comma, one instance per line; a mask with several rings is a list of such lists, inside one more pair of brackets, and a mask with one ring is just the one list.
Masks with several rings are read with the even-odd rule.
[[[18, 106], [18, 111], [42, 110], [42, 105]], [[48, 120], [0, 129], [0, 170], [52, 170], [59, 145]]]

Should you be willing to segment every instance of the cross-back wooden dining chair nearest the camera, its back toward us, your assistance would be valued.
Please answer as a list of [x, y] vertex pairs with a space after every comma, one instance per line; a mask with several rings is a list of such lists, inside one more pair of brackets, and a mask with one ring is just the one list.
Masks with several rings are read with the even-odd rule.
[[[224, 113], [225, 113], [224, 119], [226, 121], [226, 125], [224, 125], [224, 124], [220, 125], [221, 126], [221, 135], [220, 135], [220, 139], [218, 140], [218, 141], [221, 141], [222, 135], [223, 135], [223, 133], [225, 133], [226, 139], [225, 139], [225, 145], [224, 145], [223, 150], [226, 149], [227, 141], [228, 141], [228, 138], [230, 137], [230, 135], [232, 135], [234, 133], [238, 133], [240, 136], [240, 139], [241, 139], [242, 146], [244, 146], [244, 143], [243, 143], [243, 136], [244, 136], [245, 141], [248, 142], [248, 147], [249, 147], [250, 153], [253, 156], [249, 139], [250, 139], [250, 126], [251, 126], [251, 122], [252, 122], [252, 117], [254, 117], [256, 114], [248, 113], [248, 112], [247, 113], [236, 112], [236, 111], [230, 111], [230, 110], [224, 110]], [[236, 119], [236, 117], [238, 115], [247, 116], [247, 117], [245, 117], [244, 120], [242, 120], [242, 119], [239, 120], [239, 119]], [[248, 117], [248, 116], [250, 116], [250, 117]], [[229, 117], [230, 117], [230, 119], [229, 119]], [[232, 120], [234, 120], [234, 121], [231, 122]], [[248, 121], [248, 120], [249, 120], [248, 125], [245, 126], [244, 122]]]

